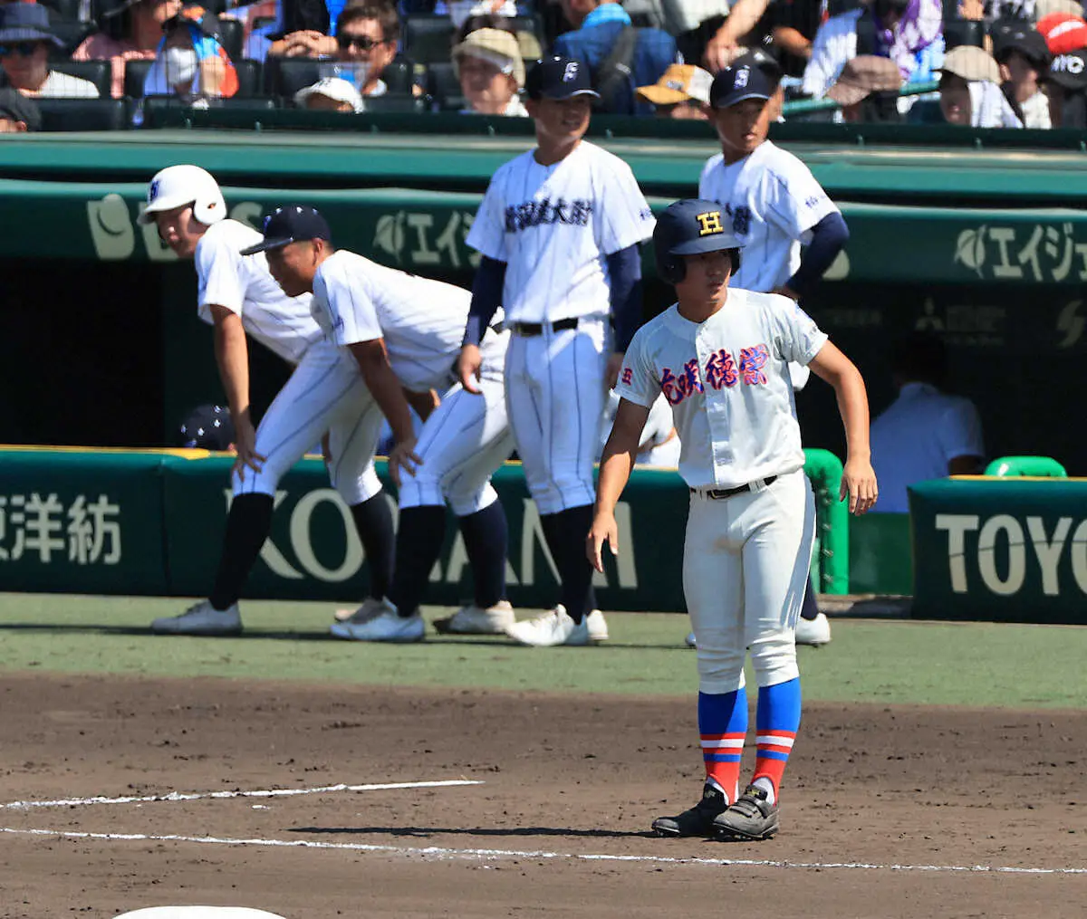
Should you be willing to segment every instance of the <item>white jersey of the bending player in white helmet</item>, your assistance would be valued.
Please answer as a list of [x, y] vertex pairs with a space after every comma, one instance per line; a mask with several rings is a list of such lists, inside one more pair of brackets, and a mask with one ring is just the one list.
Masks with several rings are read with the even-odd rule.
[[324, 337], [310, 310], [310, 294], [287, 297], [268, 274], [263, 252], [240, 255], [264, 239], [237, 221], [212, 224], [197, 243], [198, 314], [213, 323], [211, 307], [241, 316], [246, 331], [291, 364]]

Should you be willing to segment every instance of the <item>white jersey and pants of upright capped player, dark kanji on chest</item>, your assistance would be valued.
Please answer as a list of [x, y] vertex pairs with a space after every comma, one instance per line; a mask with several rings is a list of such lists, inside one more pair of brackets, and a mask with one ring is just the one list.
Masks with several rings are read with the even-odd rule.
[[[611, 350], [605, 256], [648, 239], [653, 224], [630, 167], [587, 141], [549, 166], [535, 151], [502, 165], [472, 224], [467, 244], [507, 265], [507, 404], [541, 514], [596, 499]], [[562, 319], [576, 328], [552, 328]], [[542, 325], [542, 333], [523, 333], [522, 323]]]

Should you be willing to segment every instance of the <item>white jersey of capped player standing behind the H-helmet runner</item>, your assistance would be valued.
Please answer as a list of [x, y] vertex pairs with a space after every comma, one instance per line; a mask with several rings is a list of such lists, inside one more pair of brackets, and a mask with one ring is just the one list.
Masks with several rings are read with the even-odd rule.
[[721, 153], [711, 156], [698, 197], [721, 204], [744, 243], [733, 282], [764, 292], [792, 277], [800, 267], [800, 244], [811, 241], [812, 227], [838, 211], [811, 171], [769, 140], [727, 165]]

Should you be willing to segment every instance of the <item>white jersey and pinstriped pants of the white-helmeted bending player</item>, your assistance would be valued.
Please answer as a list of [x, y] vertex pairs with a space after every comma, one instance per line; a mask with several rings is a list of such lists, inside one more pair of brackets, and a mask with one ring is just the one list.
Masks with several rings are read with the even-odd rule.
[[[287, 297], [263, 252], [239, 254], [263, 238], [237, 221], [221, 221], [196, 251], [200, 318], [212, 323], [211, 307], [223, 306], [241, 317], [252, 339], [296, 365], [257, 428], [255, 450], [265, 457], [261, 471], [236, 474], [234, 493], [275, 495], [279, 479], [327, 432], [333, 487], [349, 505], [359, 504], [382, 490], [361, 420], [374, 415], [370, 392], [354, 363], [325, 340], [310, 294]], [[376, 418], [379, 424], [380, 413]]]

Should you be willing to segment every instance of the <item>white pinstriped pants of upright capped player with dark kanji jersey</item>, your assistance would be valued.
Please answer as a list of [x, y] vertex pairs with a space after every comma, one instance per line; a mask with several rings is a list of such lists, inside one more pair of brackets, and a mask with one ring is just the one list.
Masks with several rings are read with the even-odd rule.
[[610, 328], [604, 316], [541, 335], [514, 329], [505, 355], [505, 404], [528, 492], [540, 514], [596, 501], [592, 464], [603, 419]]

